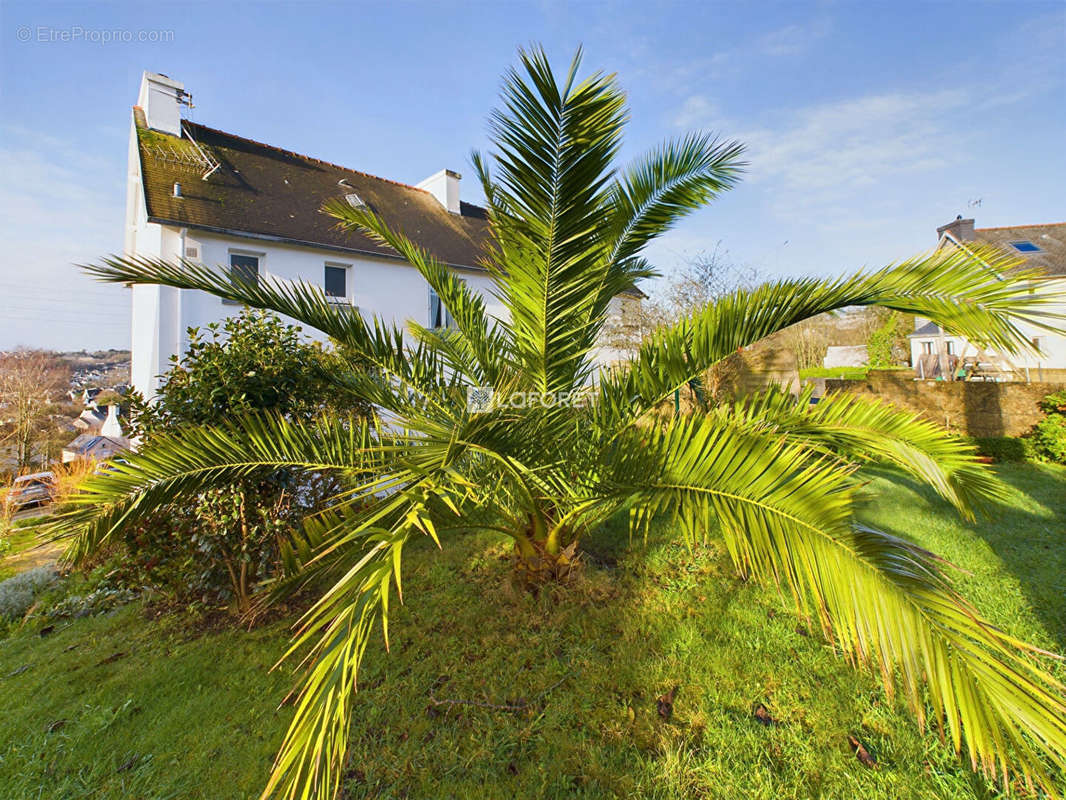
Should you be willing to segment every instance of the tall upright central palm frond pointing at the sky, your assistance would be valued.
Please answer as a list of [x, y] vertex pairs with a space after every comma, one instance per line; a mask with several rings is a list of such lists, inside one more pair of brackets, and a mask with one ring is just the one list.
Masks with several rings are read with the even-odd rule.
[[580, 52], [562, 83], [543, 50], [519, 57], [523, 75], [508, 73], [490, 121], [489, 268], [517, 361], [550, 393], [569, 388], [595, 343], [587, 311], [610, 266], [603, 237], [625, 97], [613, 77], [579, 82]]

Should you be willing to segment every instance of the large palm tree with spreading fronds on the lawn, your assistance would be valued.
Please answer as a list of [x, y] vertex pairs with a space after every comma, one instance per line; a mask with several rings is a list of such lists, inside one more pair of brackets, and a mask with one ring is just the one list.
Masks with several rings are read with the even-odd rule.
[[[881, 305], [1015, 352], [1028, 346], [1018, 323], [1050, 327], [1053, 299], [1030, 292], [1031, 275], [1002, 254], [940, 252], [845, 278], [737, 290], [598, 371], [609, 303], [651, 274], [645, 246], [738, 180], [742, 148], [691, 135], [615, 171], [627, 111], [614, 77], [579, 79], [580, 53], [562, 79], [542, 51], [519, 55], [491, 116], [494, 151], [473, 156], [491, 229], [484, 266], [506, 319], [491, 319], [480, 295], [387, 220], [343, 203], [326, 210], [418, 269], [454, 329], [411, 323], [405, 334], [317, 287], [243, 282], [190, 261], [112, 257], [86, 268], [301, 320], [369, 365], [332, 379], [379, 414], [245, 416], [164, 436], [84, 484], [61, 522], [72, 556], [228, 480], [279, 467], [344, 479], [329, 510], [306, 522], [272, 590], [328, 586], [290, 651], [307, 647], [309, 667], [264, 797], [337, 793], [359, 663], [376, 624], [388, 644], [413, 538], [446, 547], [462, 531], [498, 531], [535, 585], [565, 579], [581, 535], [619, 513], [637, 531], [658, 518], [687, 541], [721, 539], [740, 573], [787, 586], [801, 614], [850, 660], [902, 687], [919, 720], [974, 768], [1053, 787], [1066, 766], [1063, 686], [1032, 647], [982, 620], [941, 560], [855, 518], [870, 463], [928, 483], [967, 517], [996, 501], [1000, 484], [969, 446], [849, 396], [810, 405], [766, 390], [683, 418], [660, 413], [675, 389], [738, 349], [819, 314]], [[471, 387], [503, 401], [471, 407]]]

